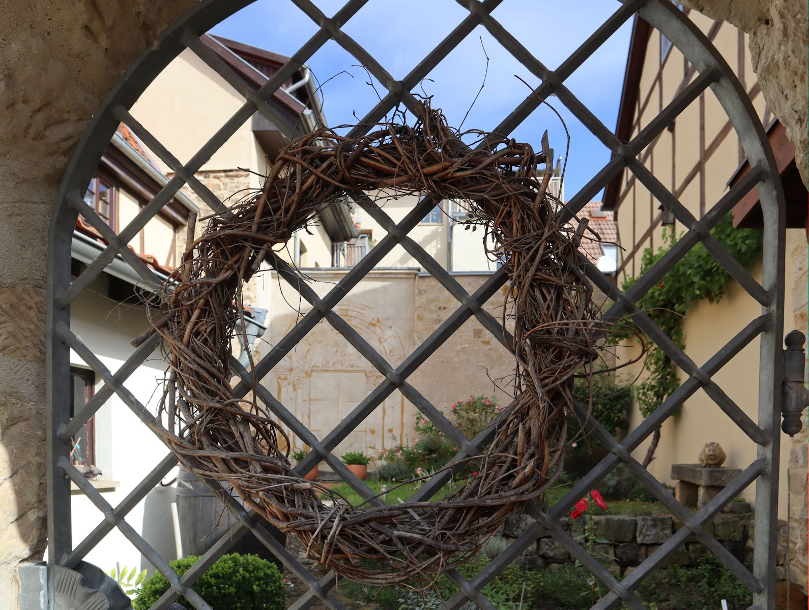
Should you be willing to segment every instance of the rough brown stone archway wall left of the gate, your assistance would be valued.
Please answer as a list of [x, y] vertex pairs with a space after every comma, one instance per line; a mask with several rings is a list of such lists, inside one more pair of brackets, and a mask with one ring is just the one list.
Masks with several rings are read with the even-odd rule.
[[121, 72], [194, 0], [9, 0], [0, 11], [0, 610], [45, 547], [48, 222], [70, 154]]

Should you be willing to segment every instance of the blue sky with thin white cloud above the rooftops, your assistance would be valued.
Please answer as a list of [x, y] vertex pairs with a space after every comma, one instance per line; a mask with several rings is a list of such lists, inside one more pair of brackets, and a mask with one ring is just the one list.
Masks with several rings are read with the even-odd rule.
[[[325, 15], [340, 9], [341, 0], [315, 0]], [[556, 68], [582, 44], [612, 12], [621, 6], [610, 0], [505, 0], [493, 17], [509, 30], [534, 57]], [[373, 55], [394, 78], [404, 78], [421, 58], [464, 19], [467, 11], [454, 0], [371, 0], [343, 30]], [[565, 82], [603, 121], [615, 128], [621, 99], [631, 20]], [[212, 32], [275, 53], [291, 55], [317, 30], [317, 26], [292, 2], [259, 0], [219, 23]], [[482, 40], [482, 48], [481, 48]], [[532, 86], [539, 81], [506, 51], [483, 27], [477, 27], [438, 65], [422, 86], [433, 95], [449, 123], [457, 127], [481, 87], [489, 56], [485, 87], [464, 123], [464, 128], [492, 129], [528, 94], [519, 75]], [[328, 123], [355, 123], [377, 101], [368, 77], [358, 61], [332, 40], [309, 61], [323, 86]], [[345, 74], [343, 71], [345, 70]], [[342, 74], [341, 74], [342, 73]], [[383, 87], [376, 83], [380, 95]], [[417, 89], [418, 90], [418, 89]], [[419, 91], [420, 92], [420, 91]], [[549, 103], [560, 112], [570, 131], [570, 154], [565, 175], [565, 197], [570, 198], [608, 162], [609, 152], [555, 97]], [[565, 154], [565, 129], [548, 107], [542, 106], [512, 133], [540, 149], [547, 129], [557, 157]]]

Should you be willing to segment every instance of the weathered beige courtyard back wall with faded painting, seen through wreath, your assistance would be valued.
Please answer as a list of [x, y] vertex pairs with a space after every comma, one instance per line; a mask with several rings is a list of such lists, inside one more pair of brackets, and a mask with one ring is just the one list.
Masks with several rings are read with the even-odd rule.
[[[346, 271], [303, 270], [320, 297]], [[293, 289], [279, 282], [277, 274], [267, 276], [272, 284], [269, 337], [262, 338], [258, 347], [264, 353], [292, 329], [301, 314], [311, 309], [294, 298]], [[489, 273], [456, 274], [455, 280], [471, 293], [489, 276]], [[498, 292], [486, 309], [499, 317], [502, 300], [503, 295]], [[334, 311], [396, 368], [458, 307], [460, 303], [432, 276], [404, 268], [371, 271], [341, 299]], [[434, 406], [448, 412], [452, 403], [470, 394], [484, 394], [507, 404], [507, 377], [513, 372], [514, 357], [477, 320], [471, 319], [430, 355], [408, 381]], [[323, 439], [384, 379], [337, 330], [328, 322], [320, 322], [269, 372], [263, 383]], [[416, 414], [416, 407], [395, 390], [333, 452], [340, 456], [347, 451], [362, 451], [376, 457], [391, 448], [395, 440], [412, 444], [416, 440], [413, 436]], [[291, 438], [294, 448], [302, 445], [294, 435]]]

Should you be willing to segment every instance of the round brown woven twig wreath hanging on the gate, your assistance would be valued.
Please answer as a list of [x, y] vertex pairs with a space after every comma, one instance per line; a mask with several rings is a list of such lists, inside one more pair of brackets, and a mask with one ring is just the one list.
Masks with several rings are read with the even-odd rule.
[[[461, 141], [469, 135], [486, 138], [492, 152], [470, 151]], [[596, 355], [595, 309], [578, 268], [583, 225], [559, 224], [540, 162], [530, 145], [458, 133], [427, 106], [412, 127], [381, 124], [355, 139], [321, 129], [290, 144], [260, 193], [234, 204], [229, 217], [213, 217], [169, 280], [168, 315], [155, 325], [171, 371], [159, 433], [180, 463], [231, 486], [298, 536], [309, 557], [358, 582], [433, 580], [472, 557], [506, 515], [557, 476], [573, 375]], [[354, 507], [332, 494], [328, 506], [324, 489], [292, 470], [269, 410], [232, 393], [241, 288], [320, 208], [351, 191], [391, 188], [465, 202], [493, 238], [491, 254], [510, 278], [516, 398], [493, 443], [474, 458], [478, 475], [443, 501]]]

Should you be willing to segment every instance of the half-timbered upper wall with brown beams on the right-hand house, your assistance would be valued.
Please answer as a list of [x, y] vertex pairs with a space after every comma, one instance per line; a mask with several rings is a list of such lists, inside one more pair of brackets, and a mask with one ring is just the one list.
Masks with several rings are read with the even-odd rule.
[[[748, 90], [758, 118], [765, 125], [774, 120], [761, 95], [756, 74], [752, 72], [750, 54], [745, 50], [746, 35], [728, 23], [714, 25], [712, 19], [696, 11], [691, 11], [688, 18], [712, 37], [714, 45]], [[688, 69], [690, 65], [676, 48], [671, 48], [661, 66], [661, 39], [659, 32], [652, 32], [646, 48], [632, 137], [697, 76], [696, 71]], [[704, 168], [702, 158], [705, 158]], [[644, 166], [697, 217], [726, 192], [727, 181], [744, 158], [739, 139], [711, 90], [705, 90], [640, 155]], [[659, 201], [633, 179], [629, 170], [624, 171], [620, 192], [616, 221], [624, 250], [619, 250], [618, 255], [619, 282], [640, 271], [644, 248], [663, 246]], [[654, 227], [651, 233], [648, 232], [650, 226]], [[682, 225], [676, 225], [676, 231], [681, 233]]]

